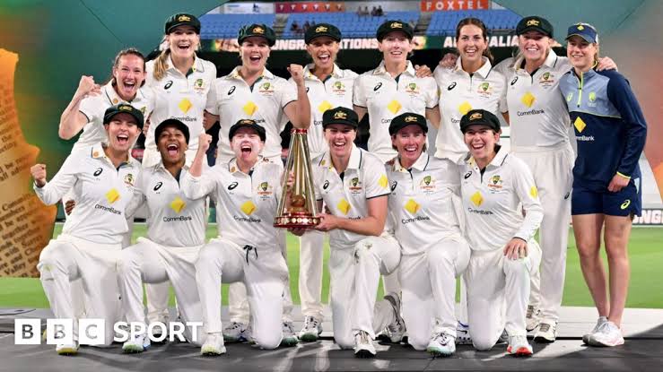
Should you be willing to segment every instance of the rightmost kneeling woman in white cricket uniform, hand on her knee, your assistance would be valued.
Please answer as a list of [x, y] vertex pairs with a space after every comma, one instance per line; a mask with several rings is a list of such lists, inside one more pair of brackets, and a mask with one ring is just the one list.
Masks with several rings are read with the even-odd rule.
[[469, 149], [459, 166], [472, 248], [465, 272], [469, 333], [477, 350], [490, 350], [506, 330], [507, 352], [528, 356], [529, 280], [541, 259], [534, 240], [543, 218], [537, 186], [528, 166], [497, 144], [500, 120], [493, 113], [470, 110], [460, 130]]

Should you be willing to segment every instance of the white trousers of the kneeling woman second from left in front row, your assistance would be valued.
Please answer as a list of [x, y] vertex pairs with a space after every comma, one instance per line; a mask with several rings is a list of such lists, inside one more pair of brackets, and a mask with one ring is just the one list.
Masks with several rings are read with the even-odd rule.
[[[138, 238], [134, 246], [123, 249], [118, 261], [118, 275], [126, 321], [145, 323], [143, 283], [169, 284], [170, 281], [178, 298], [182, 321], [201, 322], [203, 309], [196, 290], [195, 267], [201, 247], [165, 247], [150, 239]], [[168, 286], [165, 288], [168, 290]], [[149, 316], [147, 320], [153, 322]], [[161, 322], [160, 319], [156, 321]], [[202, 344], [203, 334], [199, 328], [188, 327], [185, 336], [189, 342]]]

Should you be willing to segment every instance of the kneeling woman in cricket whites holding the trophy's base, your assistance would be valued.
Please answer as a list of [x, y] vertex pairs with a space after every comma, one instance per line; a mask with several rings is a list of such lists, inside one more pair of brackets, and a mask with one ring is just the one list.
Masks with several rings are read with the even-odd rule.
[[329, 150], [313, 160], [313, 177], [318, 207], [324, 201], [330, 211], [320, 213], [316, 229], [330, 237], [334, 340], [353, 347], [355, 357], [372, 358], [376, 331], [405, 328], [396, 293], [375, 301], [379, 275], [400, 261], [398, 243], [385, 231], [388, 178], [378, 157], [354, 145], [359, 121], [353, 110], [328, 109], [322, 125]]

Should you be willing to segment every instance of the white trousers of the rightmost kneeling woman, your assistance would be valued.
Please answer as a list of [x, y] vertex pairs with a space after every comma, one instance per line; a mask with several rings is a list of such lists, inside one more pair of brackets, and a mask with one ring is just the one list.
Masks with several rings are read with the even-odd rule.
[[[469, 333], [476, 350], [490, 350], [506, 329], [526, 336], [530, 273], [541, 261], [537, 241], [528, 241], [528, 256], [510, 260], [502, 248], [473, 250], [465, 272]], [[506, 314], [503, 314], [506, 312]]]

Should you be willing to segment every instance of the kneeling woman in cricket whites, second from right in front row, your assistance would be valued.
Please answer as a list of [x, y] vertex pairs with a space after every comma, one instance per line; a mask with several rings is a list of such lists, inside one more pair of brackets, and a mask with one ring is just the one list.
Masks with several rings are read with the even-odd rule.
[[403, 255], [398, 279], [407, 342], [414, 350], [446, 357], [456, 350], [456, 278], [465, 272], [470, 249], [461, 230], [457, 166], [428, 155], [427, 132], [421, 115], [404, 113], [391, 120], [398, 156], [387, 165], [388, 210]]

